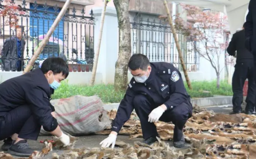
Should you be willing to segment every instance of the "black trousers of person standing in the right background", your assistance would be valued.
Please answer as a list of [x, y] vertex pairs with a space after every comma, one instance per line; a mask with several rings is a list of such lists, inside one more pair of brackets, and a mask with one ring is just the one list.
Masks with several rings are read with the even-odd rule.
[[242, 110], [241, 104], [243, 103], [243, 87], [244, 82], [248, 79], [248, 92], [246, 97], [246, 111], [254, 111], [255, 105], [255, 81], [253, 61], [239, 62], [234, 66], [234, 74], [232, 77], [232, 91], [233, 91], [233, 111], [237, 112]]

